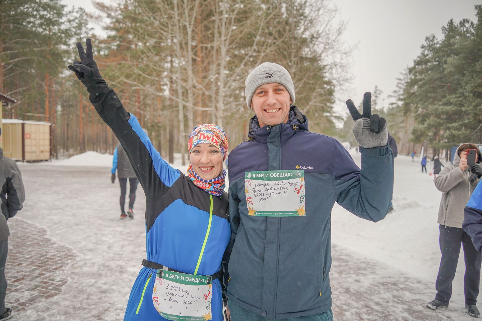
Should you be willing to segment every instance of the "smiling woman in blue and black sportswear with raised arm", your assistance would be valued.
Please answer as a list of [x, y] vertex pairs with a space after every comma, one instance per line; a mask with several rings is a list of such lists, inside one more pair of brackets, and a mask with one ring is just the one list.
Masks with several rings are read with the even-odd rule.
[[81, 61], [68, 67], [124, 147], [147, 200], [147, 259], [124, 320], [222, 321], [220, 268], [231, 235], [228, 195], [223, 193], [226, 134], [215, 125], [197, 126], [188, 141], [188, 175], [169, 166], [102, 79], [91, 40], [86, 44], [87, 53], [77, 43]]

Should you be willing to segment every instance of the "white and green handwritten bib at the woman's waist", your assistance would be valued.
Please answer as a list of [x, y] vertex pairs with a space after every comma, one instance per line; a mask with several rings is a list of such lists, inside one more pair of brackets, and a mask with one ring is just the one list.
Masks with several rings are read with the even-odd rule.
[[158, 270], [152, 302], [167, 320], [211, 320], [211, 277]]

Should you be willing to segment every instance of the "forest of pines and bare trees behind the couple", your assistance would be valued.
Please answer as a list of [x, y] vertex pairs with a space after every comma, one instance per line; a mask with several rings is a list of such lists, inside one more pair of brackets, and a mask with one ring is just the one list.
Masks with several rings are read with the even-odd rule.
[[[101, 74], [171, 163], [174, 153], [187, 152], [187, 136], [196, 124], [223, 127], [231, 148], [247, 137], [253, 113], [245, 103], [244, 80], [264, 61], [289, 70], [296, 105], [308, 116], [310, 130], [356, 146], [353, 121], [334, 112], [335, 92], [350, 81], [354, 47], [342, 40], [345, 25], [335, 19], [332, 2], [94, 5], [109, 19], [107, 37], [87, 27], [100, 16], [68, 9], [60, 0], [0, 0], [0, 92], [17, 100], [3, 109], [3, 117], [52, 122], [54, 157], [112, 153], [117, 143], [67, 69], [78, 59], [75, 43], [88, 37]], [[450, 20], [440, 39], [426, 37], [413, 64], [401, 71], [393, 103], [382, 105], [380, 90], [372, 90], [374, 113], [386, 117], [399, 153], [425, 146], [448, 157], [444, 151], [457, 143], [482, 142], [482, 6], [474, 10], [477, 21]]]

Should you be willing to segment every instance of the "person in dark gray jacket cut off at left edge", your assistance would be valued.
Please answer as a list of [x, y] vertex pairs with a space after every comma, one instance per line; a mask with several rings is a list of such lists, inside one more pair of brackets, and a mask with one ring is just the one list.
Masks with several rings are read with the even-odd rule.
[[[0, 128], [0, 142], [1, 128]], [[8, 229], [7, 220], [13, 218], [22, 209], [25, 201], [25, 189], [22, 174], [17, 163], [7, 156], [3, 156], [0, 148], [0, 186], [2, 186], [1, 214], [0, 215], [0, 321], [12, 317], [12, 308], [5, 307], [5, 294], [7, 292], [7, 280], [5, 279], [5, 262], [7, 261]]]

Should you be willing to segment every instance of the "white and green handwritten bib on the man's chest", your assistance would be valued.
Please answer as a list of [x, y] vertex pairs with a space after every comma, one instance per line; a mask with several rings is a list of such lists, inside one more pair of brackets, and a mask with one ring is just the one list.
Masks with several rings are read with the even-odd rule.
[[302, 169], [246, 172], [244, 192], [248, 215], [306, 216]]

